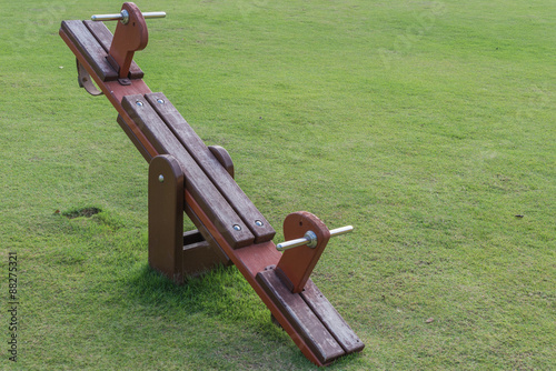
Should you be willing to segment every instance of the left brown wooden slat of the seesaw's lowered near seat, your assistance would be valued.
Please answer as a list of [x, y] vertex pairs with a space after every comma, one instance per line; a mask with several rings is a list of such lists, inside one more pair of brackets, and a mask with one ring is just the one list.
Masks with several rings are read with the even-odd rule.
[[259, 272], [256, 280], [321, 363], [330, 363], [345, 354], [344, 349], [304, 299], [297, 293], [291, 293], [274, 270]]

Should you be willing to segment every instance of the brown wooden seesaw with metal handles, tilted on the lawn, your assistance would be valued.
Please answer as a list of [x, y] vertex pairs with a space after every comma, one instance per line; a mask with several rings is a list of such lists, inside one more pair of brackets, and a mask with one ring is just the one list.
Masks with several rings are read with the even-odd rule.
[[[165, 94], [150, 91], [133, 62], [148, 42], [145, 19], [162, 17], [125, 2], [120, 13], [62, 21], [60, 28], [76, 54], [80, 87], [108, 98], [149, 163], [150, 267], [181, 284], [236, 264], [311, 362], [326, 365], [361, 351], [364, 343], [309, 278], [328, 240], [353, 228], [329, 230], [316, 215], [294, 212], [284, 221], [288, 241], [272, 242], [276, 232], [234, 180], [228, 152], [207, 147]], [[118, 21], [113, 36], [102, 21]], [[197, 230], [183, 232], [183, 212]]]

